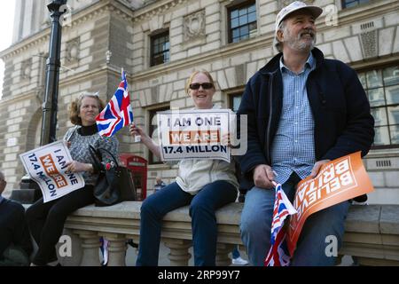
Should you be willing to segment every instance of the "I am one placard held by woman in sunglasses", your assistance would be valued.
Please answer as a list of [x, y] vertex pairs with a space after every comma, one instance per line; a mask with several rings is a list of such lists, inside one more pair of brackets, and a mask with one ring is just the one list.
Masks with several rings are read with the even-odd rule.
[[162, 161], [218, 159], [230, 162], [230, 109], [172, 110], [157, 114]]

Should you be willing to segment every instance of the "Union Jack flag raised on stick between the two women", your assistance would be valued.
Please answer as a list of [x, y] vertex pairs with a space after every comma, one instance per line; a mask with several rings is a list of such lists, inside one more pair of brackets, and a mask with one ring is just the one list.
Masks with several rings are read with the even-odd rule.
[[125, 72], [121, 71], [121, 83], [113, 94], [108, 105], [96, 117], [98, 134], [113, 136], [118, 130], [133, 122], [133, 112], [130, 106], [128, 81]]

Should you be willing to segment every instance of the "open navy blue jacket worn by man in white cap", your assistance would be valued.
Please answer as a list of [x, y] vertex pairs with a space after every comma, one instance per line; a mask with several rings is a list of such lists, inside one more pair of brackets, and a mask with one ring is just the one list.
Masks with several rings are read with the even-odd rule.
[[[374, 119], [355, 70], [339, 60], [325, 59], [317, 48], [312, 53], [317, 65], [309, 74], [306, 89], [315, 121], [317, 161], [357, 151], [364, 156], [372, 146]], [[281, 56], [279, 53], [249, 79], [239, 106], [238, 114], [248, 116], [247, 150], [238, 157], [244, 189], [254, 186], [255, 166], [271, 164], [270, 146], [283, 104]]]

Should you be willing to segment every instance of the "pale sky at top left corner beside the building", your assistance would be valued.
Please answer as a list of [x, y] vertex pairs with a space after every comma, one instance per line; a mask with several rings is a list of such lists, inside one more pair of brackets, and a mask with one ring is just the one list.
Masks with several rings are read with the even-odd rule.
[[[4, 51], [12, 43], [14, 26], [14, 10], [16, 0], [0, 1], [0, 51]], [[4, 62], [0, 59], [0, 98], [3, 96]]]

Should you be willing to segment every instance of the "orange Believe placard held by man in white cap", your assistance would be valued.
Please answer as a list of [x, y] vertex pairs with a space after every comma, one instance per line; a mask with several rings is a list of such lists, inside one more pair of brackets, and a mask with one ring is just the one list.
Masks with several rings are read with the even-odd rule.
[[302, 226], [311, 214], [373, 190], [360, 152], [328, 162], [317, 177], [301, 180], [293, 201], [298, 213], [291, 216], [287, 233], [290, 255], [293, 256]]

